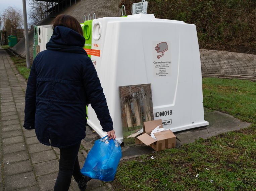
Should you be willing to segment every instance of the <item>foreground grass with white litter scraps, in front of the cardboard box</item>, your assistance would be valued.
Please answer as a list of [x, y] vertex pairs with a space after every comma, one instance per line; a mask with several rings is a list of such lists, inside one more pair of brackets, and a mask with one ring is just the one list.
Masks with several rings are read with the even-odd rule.
[[256, 187], [255, 138], [248, 128], [156, 152], [154, 160], [144, 155], [121, 162], [112, 185], [116, 190], [251, 191]]

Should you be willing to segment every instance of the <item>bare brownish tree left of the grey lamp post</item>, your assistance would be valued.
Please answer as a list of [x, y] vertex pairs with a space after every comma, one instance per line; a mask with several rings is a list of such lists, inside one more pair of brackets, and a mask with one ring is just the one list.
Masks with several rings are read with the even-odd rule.
[[23, 24], [21, 11], [14, 7], [8, 7], [4, 10], [3, 16], [4, 26], [7, 27], [6, 31], [7, 29], [11, 30], [8, 32], [11, 32], [12, 35], [17, 35], [17, 28], [21, 28]]

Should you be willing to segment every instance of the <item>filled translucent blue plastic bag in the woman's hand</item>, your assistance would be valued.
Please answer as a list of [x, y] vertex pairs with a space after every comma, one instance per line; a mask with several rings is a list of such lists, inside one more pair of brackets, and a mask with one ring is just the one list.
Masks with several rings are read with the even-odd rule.
[[119, 143], [113, 139], [108, 140], [105, 136], [95, 141], [86, 157], [81, 173], [93, 179], [112, 181], [121, 156]]

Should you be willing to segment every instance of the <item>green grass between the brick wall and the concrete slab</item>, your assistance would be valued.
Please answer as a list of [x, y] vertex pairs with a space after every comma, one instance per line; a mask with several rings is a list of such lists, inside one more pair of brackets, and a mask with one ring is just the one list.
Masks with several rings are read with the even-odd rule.
[[204, 107], [256, 123], [256, 82], [203, 78]]

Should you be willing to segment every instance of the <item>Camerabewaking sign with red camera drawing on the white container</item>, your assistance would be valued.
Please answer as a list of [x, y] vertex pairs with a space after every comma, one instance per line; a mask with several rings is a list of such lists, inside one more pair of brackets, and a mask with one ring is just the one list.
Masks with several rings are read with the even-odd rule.
[[153, 41], [154, 77], [171, 76], [170, 42]]

